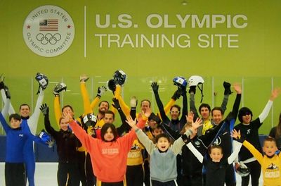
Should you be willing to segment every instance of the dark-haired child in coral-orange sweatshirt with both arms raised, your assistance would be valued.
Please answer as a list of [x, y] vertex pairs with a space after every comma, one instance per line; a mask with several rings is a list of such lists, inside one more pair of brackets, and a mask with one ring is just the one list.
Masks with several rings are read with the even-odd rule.
[[[139, 128], [144, 128], [150, 113], [151, 111], [148, 109], [144, 114], [140, 114], [141, 117], [138, 118], [137, 124]], [[104, 183], [116, 186], [126, 185], [124, 182], [126, 161], [133, 141], [136, 140], [136, 132], [131, 130], [123, 137], [117, 138], [115, 125], [105, 123], [103, 128], [101, 128], [102, 139], [99, 140], [88, 135], [69, 114], [65, 118], [69, 120], [69, 125], [74, 135], [76, 135], [91, 156], [93, 172], [97, 177], [97, 186]], [[126, 122], [136, 123], [136, 119], [133, 120], [129, 116]]]

